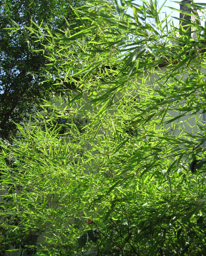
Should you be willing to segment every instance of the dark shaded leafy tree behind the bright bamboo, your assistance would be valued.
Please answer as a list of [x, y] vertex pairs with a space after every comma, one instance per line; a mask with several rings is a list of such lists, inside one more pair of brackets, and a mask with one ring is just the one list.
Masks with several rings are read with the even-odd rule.
[[47, 26], [56, 32], [74, 29], [78, 21], [72, 8], [80, 5], [83, 5], [83, 1], [1, 1], [1, 137], [8, 138], [9, 133], [15, 130], [12, 121], [28, 121], [29, 115], [39, 109], [41, 98], [48, 99], [52, 92], [59, 92], [63, 86], [45, 81], [45, 77], [41, 76], [41, 69], [49, 62], [45, 55], [51, 55], [48, 47], [42, 49], [42, 44], [48, 42], [46, 38], [34, 40], [27, 27], [31, 26], [35, 30], [38, 26]]

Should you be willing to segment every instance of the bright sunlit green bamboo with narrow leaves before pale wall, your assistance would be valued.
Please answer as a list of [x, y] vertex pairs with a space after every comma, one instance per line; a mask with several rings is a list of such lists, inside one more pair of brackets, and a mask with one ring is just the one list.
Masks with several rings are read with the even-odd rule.
[[184, 5], [197, 40], [156, 1], [88, 1], [73, 34], [29, 28], [50, 41], [41, 75], [77, 88], [1, 140], [2, 255], [205, 255], [206, 5]]

